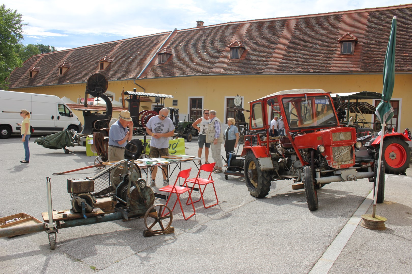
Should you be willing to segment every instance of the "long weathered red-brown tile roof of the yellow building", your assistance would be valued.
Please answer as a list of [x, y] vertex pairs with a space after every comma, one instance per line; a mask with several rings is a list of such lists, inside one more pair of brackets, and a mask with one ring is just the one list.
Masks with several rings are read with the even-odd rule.
[[[344, 12], [229, 22], [135, 37], [35, 55], [10, 75], [10, 88], [84, 83], [99, 71], [97, 60], [113, 62], [109, 81], [195, 75], [380, 73], [392, 17], [397, 16], [396, 72], [412, 71], [412, 4]], [[169, 35], [171, 35], [169, 37]], [[167, 39], [169, 37], [169, 39]], [[341, 55], [338, 41], [356, 40], [354, 54]], [[167, 39], [167, 41], [166, 41]], [[166, 43], [164, 43], [166, 41]], [[228, 45], [246, 50], [230, 60]], [[173, 58], [158, 64], [159, 51]], [[148, 64], [148, 62], [150, 64]], [[63, 62], [72, 63], [58, 76]], [[26, 72], [42, 67], [36, 77]]]

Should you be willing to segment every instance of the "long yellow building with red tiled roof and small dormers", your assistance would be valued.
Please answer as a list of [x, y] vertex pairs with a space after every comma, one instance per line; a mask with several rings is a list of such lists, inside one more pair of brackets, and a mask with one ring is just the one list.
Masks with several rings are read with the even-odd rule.
[[[80, 101], [88, 77], [101, 73], [109, 81], [106, 95], [116, 101], [123, 89], [171, 94], [174, 98], [166, 99], [165, 106], [179, 108], [180, 120], [197, 119], [208, 108], [222, 122], [234, 116], [227, 106], [234, 106], [236, 95], [249, 109], [248, 101], [296, 88], [381, 93], [394, 15], [398, 29], [391, 102], [396, 115], [391, 125], [402, 131], [412, 127], [412, 5], [209, 26], [198, 21], [196, 28], [35, 55], [12, 72], [9, 90]], [[374, 117], [367, 119], [373, 122]]]

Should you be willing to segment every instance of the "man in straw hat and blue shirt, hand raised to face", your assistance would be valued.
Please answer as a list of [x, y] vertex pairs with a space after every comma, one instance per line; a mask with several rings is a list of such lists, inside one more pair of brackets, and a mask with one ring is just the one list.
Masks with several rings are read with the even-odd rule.
[[109, 161], [120, 161], [124, 159], [124, 148], [133, 136], [133, 121], [129, 111], [122, 111], [109, 131]]

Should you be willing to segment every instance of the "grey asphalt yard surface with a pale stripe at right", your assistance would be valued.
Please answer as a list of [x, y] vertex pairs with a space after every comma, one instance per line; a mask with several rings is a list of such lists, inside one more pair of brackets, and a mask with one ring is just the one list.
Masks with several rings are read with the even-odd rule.
[[[19, 162], [19, 137], [0, 140], [0, 217], [25, 212], [42, 220], [46, 177], [52, 178], [53, 208], [69, 209], [67, 178], [99, 172], [52, 175], [92, 165], [94, 157], [85, 147], [64, 154], [33, 138], [28, 164]], [[197, 155], [197, 138], [185, 145], [186, 154]], [[190, 167], [195, 177], [195, 165], [182, 164]], [[311, 212], [304, 190], [292, 190], [293, 180], [272, 182], [269, 195], [255, 199], [243, 178], [213, 174], [219, 204], [204, 209], [197, 203], [188, 221], [176, 208], [174, 234], [144, 238], [143, 219], [133, 219], [61, 229], [55, 250], [44, 232], [1, 238], [0, 273], [412, 273], [411, 175], [410, 169], [407, 176], [386, 175], [385, 201], [377, 205], [377, 214], [388, 219], [382, 231], [359, 225], [360, 215], [372, 210], [368, 179], [326, 185], [318, 191], [319, 209]], [[205, 196], [213, 203], [211, 189]]]

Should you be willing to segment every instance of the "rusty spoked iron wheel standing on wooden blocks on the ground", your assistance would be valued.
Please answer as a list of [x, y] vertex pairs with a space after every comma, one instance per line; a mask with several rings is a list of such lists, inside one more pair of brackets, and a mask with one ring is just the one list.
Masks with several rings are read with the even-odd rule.
[[173, 221], [173, 214], [166, 205], [152, 205], [145, 214], [145, 226], [152, 234], [163, 234]]

